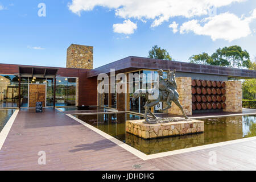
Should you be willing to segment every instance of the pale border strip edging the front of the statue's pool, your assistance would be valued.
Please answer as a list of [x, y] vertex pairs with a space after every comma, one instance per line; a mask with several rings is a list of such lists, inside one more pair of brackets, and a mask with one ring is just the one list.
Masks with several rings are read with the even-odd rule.
[[156, 159], [156, 158], [162, 158], [165, 156], [171, 156], [171, 155], [176, 155], [176, 154], [183, 154], [185, 152], [192, 152], [192, 151], [197, 151], [197, 150], [204, 150], [208, 148], [213, 148], [213, 147], [220, 147], [220, 146], [226, 146], [228, 144], [235, 144], [235, 143], [240, 143], [240, 142], [247, 142], [251, 140], [256, 140], [256, 137], [250, 137], [250, 138], [242, 138], [242, 139], [237, 139], [237, 140], [230, 140], [226, 142], [219, 142], [219, 143], [213, 143], [213, 144], [206, 144], [203, 146], [197, 146], [197, 147], [190, 147], [190, 148], [184, 148], [180, 150], [174, 150], [174, 151], [168, 151], [168, 152], [161, 152], [158, 154], [150, 154], [146, 155], [143, 152], [129, 146], [126, 143], [121, 142], [120, 140], [112, 137], [109, 134], [106, 134], [105, 132], [97, 129], [96, 127], [89, 125], [88, 123], [81, 121], [79, 118], [74, 117], [73, 115], [76, 114], [66, 114], [68, 117], [71, 117], [72, 119], [75, 119], [77, 122], [81, 123], [82, 125], [88, 127], [89, 129], [95, 131], [97, 134], [100, 134], [102, 137], [109, 139], [110, 141], [114, 142], [118, 146], [124, 148], [125, 150], [131, 152], [131, 154], [134, 154], [138, 158], [141, 158], [142, 160], [148, 160], [148, 159]]

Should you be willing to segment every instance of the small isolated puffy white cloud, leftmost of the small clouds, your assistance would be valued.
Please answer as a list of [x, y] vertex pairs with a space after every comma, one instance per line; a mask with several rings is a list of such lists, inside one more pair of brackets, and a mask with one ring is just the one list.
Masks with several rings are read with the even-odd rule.
[[130, 19], [124, 20], [123, 23], [113, 24], [113, 31], [119, 34], [133, 34], [137, 29], [137, 24]]

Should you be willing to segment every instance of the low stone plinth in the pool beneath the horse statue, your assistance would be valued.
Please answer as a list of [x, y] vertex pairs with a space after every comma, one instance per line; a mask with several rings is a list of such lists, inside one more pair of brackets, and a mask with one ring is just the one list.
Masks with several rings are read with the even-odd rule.
[[146, 124], [144, 119], [126, 121], [126, 132], [143, 139], [172, 137], [201, 133], [204, 131], [204, 121], [178, 121], [168, 123]]

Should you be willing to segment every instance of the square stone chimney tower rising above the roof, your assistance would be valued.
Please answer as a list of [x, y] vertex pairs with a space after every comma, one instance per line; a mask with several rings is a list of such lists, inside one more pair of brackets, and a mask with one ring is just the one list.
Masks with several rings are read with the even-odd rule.
[[93, 47], [71, 44], [67, 49], [66, 67], [93, 69]]

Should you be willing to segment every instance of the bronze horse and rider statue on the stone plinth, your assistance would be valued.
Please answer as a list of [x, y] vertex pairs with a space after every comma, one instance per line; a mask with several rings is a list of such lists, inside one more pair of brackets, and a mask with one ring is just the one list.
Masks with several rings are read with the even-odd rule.
[[[155, 114], [151, 112], [151, 107], [158, 105], [159, 102], [165, 102], [167, 105], [164, 109], [161, 109], [159, 111], [163, 112], [164, 110], [170, 109], [172, 107], [172, 102], [174, 102], [180, 108], [185, 119], [188, 119], [183, 107], [179, 102], [179, 93], [177, 93], [177, 84], [175, 80], [176, 70], [174, 69], [174, 71], [171, 72], [170, 69], [168, 69], [167, 80], [163, 78], [162, 69], [159, 69], [157, 72], [158, 72], [158, 86], [152, 89], [135, 90], [133, 94], [133, 99], [132, 99], [133, 104], [135, 105], [135, 100], [138, 97], [145, 94], [146, 104], [144, 105], [144, 109], [145, 109], [144, 119], [146, 122], [148, 122], [148, 116], [147, 116], [148, 113], [152, 116], [152, 118], [157, 119]], [[156, 94], [156, 97], [154, 97], [154, 94]]]

